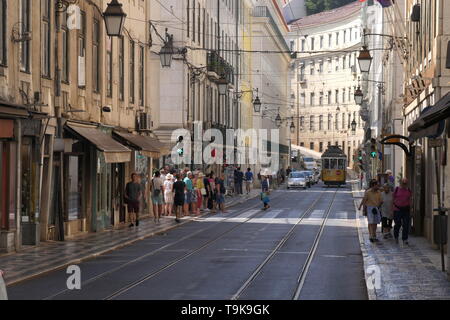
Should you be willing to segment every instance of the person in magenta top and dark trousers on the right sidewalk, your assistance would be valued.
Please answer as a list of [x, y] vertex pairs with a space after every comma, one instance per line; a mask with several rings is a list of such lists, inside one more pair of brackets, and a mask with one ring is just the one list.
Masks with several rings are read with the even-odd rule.
[[411, 228], [412, 192], [408, 188], [408, 179], [402, 179], [400, 187], [394, 191], [394, 237], [399, 242], [402, 229], [403, 244], [409, 245], [409, 230]]

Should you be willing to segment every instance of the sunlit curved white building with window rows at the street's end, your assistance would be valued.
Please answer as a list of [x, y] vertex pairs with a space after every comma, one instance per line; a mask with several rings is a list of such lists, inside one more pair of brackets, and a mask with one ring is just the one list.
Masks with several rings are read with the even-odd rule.
[[289, 33], [291, 48], [297, 52], [291, 65], [296, 121], [292, 140], [320, 153], [328, 146], [340, 146], [350, 167], [365, 127], [354, 99], [361, 85], [357, 53], [363, 40], [362, 18], [361, 4], [355, 2], [294, 21]]

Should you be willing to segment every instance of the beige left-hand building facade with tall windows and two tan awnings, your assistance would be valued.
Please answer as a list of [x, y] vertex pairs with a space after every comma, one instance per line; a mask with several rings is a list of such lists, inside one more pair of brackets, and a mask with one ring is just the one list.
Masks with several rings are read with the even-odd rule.
[[147, 125], [150, 7], [122, 2], [120, 38], [108, 1], [0, 2], [0, 250], [125, 223], [125, 183], [146, 186], [164, 152]]

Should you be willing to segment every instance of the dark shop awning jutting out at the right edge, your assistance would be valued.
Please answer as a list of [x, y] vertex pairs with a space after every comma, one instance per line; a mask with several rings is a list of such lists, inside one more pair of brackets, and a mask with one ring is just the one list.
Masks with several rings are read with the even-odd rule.
[[408, 130], [415, 140], [440, 135], [441, 122], [448, 118], [450, 118], [450, 92], [439, 100], [434, 107], [426, 109]]

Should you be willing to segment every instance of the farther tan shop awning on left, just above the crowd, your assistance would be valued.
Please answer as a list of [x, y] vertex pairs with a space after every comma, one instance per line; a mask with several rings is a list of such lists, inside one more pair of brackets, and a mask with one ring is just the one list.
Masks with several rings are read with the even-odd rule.
[[149, 158], [160, 158], [167, 155], [170, 151], [157, 139], [147, 136], [134, 135], [126, 132], [114, 131], [120, 139], [125, 140], [132, 148], [141, 151], [141, 153]]

